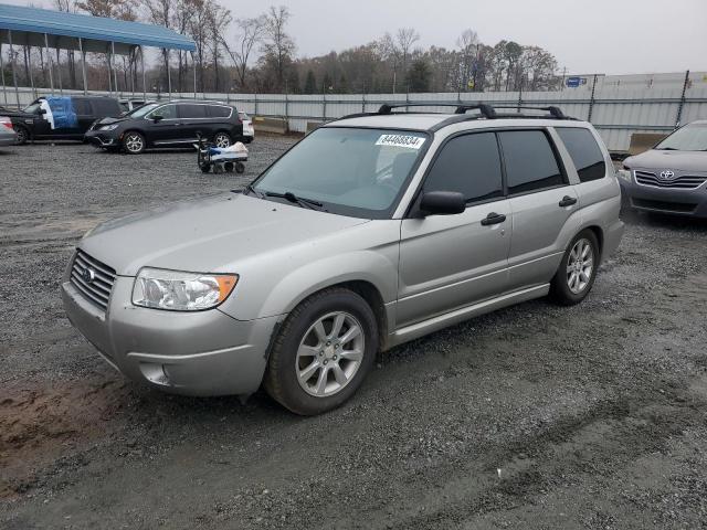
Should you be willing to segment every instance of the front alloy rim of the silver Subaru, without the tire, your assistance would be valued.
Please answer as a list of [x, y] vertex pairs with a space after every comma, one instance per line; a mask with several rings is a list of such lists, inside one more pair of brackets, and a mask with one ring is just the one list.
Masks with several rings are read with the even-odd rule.
[[315, 321], [297, 349], [297, 381], [309, 395], [325, 398], [351, 382], [363, 360], [363, 328], [351, 314], [336, 311]]

